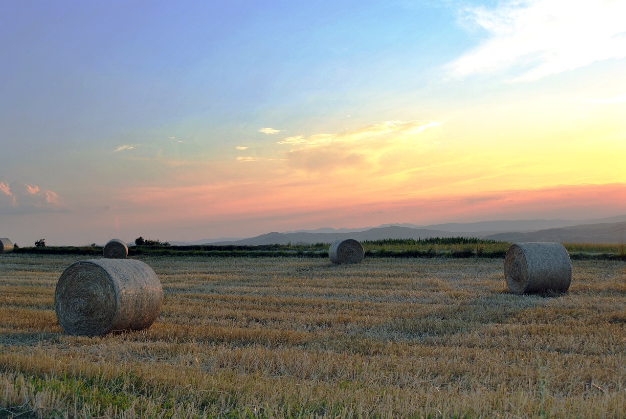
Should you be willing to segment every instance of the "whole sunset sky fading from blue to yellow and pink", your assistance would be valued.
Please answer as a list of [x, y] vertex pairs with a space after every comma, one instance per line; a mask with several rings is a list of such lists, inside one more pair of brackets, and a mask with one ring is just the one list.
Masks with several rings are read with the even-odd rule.
[[626, 214], [626, 1], [0, 1], [20, 246]]

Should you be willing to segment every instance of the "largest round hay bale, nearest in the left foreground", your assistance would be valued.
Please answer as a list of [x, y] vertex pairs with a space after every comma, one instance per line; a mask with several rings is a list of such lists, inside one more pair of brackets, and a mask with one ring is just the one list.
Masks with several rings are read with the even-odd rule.
[[150, 327], [163, 289], [155, 272], [132, 259], [91, 259], [69, 265], [54, 290], [54, 312], [69, 335], [99, 336]]

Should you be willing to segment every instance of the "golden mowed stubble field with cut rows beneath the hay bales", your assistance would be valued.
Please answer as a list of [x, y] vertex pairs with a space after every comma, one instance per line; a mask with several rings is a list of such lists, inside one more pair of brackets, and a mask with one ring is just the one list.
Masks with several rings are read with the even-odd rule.
[[147, 330], [74, 337], [80, 256], [0, 255], [0, 417], [626, 418], [626, 263], [511, 295], [500, 259], [138, 257]]

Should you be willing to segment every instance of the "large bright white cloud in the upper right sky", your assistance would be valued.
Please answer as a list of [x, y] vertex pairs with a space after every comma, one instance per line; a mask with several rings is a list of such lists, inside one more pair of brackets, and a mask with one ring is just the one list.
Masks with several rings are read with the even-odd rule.
[[453, 76], [510, 71], [531, 81], [626, 57], [626, 1], [521, 0], [466, 9], [488, 39], [449, 64]]

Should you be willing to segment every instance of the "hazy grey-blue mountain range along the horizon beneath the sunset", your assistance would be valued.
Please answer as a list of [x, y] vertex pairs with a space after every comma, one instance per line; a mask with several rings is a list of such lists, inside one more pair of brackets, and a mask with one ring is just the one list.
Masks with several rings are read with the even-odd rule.
[[511, 242], [557, 241], [560, 243], [626, 243], [626, 215], [592, 220], [511, 220], [479, 223], [447, 223], [429, 226], [382, 225], [376, 228], [287, 231], [244, 239], [170, 241], [172, 245], [272, 245], [332, 243], [337, 239], [381, 240], [386, 238], [479, 237]]

